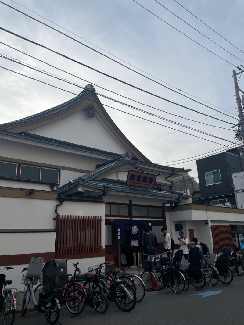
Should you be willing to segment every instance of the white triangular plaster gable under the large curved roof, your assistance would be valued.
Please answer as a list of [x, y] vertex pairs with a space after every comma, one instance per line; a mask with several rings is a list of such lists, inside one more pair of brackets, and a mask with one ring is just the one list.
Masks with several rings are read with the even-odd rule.
[[61, 121], [27, 132], [110, 152], [128, 151], [106, 127], [97, 113], [95, 117], [89, 118], [86, 110], [80, 110]]

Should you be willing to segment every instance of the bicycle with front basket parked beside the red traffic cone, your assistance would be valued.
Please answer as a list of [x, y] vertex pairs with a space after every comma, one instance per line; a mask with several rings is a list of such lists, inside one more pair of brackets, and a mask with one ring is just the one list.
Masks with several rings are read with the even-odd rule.
[[[155, 262], [156, 259], [160, 261]], [[142, 262], [142, 266], [145, 271], [142, 272], [141, 278], [145, 283], [146, 291], [154, 290], [157, 284], [159, 290], [167, 287], [175, 294], [183, 292], [185, 288], [184, 276], [168, 258], [160, 259], [155, 256], [153, 261], [150, 257], [149, 261]]]

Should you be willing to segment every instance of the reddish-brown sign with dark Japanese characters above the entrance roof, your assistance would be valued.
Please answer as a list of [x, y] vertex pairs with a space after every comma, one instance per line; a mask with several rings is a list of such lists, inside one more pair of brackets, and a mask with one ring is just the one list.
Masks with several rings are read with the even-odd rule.
[[156, 181], [156, 175], [129, 170], [126, 184], [154, 188], [155, 181]]

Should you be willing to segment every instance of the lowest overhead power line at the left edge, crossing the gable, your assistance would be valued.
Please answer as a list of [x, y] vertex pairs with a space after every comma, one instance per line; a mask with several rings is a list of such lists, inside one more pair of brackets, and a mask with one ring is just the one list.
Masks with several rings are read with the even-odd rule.
[[[29, 78], [29, 79], [32, 79], [32, 80], [38, 81], [38, 82], [40, 82], [40, 83], [42, 83], [42, 84], [49, 85], [49, 86], [51, 86], [51, 87], [53, 87], [53, 88], [63, 90], [63, 91], [65, 91], [65, 92], [70, 93], [70, 94], [73, 94], [73, 95], [75, 95], [75, 96], [80, 96], [80, 97], [84, 98], [84, 97], [83, 97], [82, 95], [80, 95], [80, 94], [75, 94], [75, 93], [73, 93], [73, 92], [71, 92], [71, 91], [68, 91], [68, 90], [65, 90], [65, 89], [63, 89], [63, 88], [60, 88], [60, 87], [57, 87], [57, 86], [54, 86], [54, 85], [48, 84], [48, 83], [46, 83], [46, 82], [40, 81], [40, 80], [38, 80], [38, 79], [35, 79], [35, 78], [33, 78], [33, 77], [29, 77], [29, 76], [27, 76], [27, 75], [25, 75], [25, 74], [22, 74], [22, 73], [20, 73], [20, 72], [13, 71], [13, 70], [11, 70], [11, 69], [7, 69], [7, 68], [2, 67], [2, 66], [0, 66], [0, 68], [2, 68], [2, 69], [4, 69], [4, 70], [7, 70], [7, 71], [10, 71], [10, 72], [14, 72], [14, 73], [19, 74], [19, 75], [22, 75], [22, 76], [27, 77], [27, 78]], [[92, 102], [96, 102], [95, 100], [92, 100], [92, 99], [89, 99], [89, 100], [91, 100]], [[140, 117], [140, 116], [137, 116], [137, 115], [131, 114], [131, 113], [129, 113], [129, 112], [125, 112], [125, 111], [123, 111], [123, 110], [119, 110], [119, 109], [117, 109], [117, 108], [114, 108], [114, 107], [111, 107], [111, 106], [108, 106], [108, 105], [105, 105], [105, 104], [102, 104], [102, 105], [107, 106], [107, 107], [110, 107], [110, 108], [112, 108], [112, 109], [114, 109], [114, 110], [120, 111], [120, 112], [122, 112], [122, 113], [128, 114], [128, 115], [130, 115], [130, 116], [137, 117], [137, 118], [142, 119], [142, 120], [144, 120], [144, 121], [151, 122], [151, 123], [154, 123], [154, 124], [157, 124], [157, 125], [161, 125], [161, 126], [167, 127], [167, 128], [169, 128], [169, 129], [172, 129], [172, 130], [177, 130], [177, 129], [172, 128], [172, 127], [170, 127], [170, 126], [167, 126], [167, 125], [164, 125], [164, 124], [161, 124], [161, 123], [157, 123], [157, 122], [154, 122], [154, 121], [150, 121], [150, 120], [145, 119], [145, 118], [143, 118], [143, 117]], [[184, 133], [184, 134], [187, 134], [187, 135], [190, 135], [190, 136], [194, 136], [194, 137], [199, 138], [199, 139], [203, 139], [203, 140], [206, 140], [206, 141], [209, 141], [209, 142], [212, 142], [212, 143], [216, 143], [216, 144], [219, 144], [219, 145], [223, 146], [223, 144], [221, 144], [221, 143], [218, 143], [218, 142], [215, 142], [215, 141], [212, 141], [212, 140], [209, 140], [209, 139], [205, 139], [205, 138], [202, 138], [202, 137], [200, 137], [200, 136], [196, 136], [196, 135], [193, 135], [193, 134], [190, 134], [190, 133], [187, 133], [187, 132], [181, 131], [181, 130], [177, 130], [177, 131], [179, 131], [179, 132], [181, 132], [181, 133]], [[214, 137], [216, 137], [216, 136], [214, 136]], [[217, 137], [216, 137], [216, 138], [217, 138]], [[234, 142], [231, 142], [231, 141], [226, 140], [226, 139], [223, 139], [223, 140], [224, 140], [224, 141], [228, 141], [228, 142], [230, 142], [230, 143], [234, 143]], [[230, 146], [226, 146], [226, 147], [231, 148]]]

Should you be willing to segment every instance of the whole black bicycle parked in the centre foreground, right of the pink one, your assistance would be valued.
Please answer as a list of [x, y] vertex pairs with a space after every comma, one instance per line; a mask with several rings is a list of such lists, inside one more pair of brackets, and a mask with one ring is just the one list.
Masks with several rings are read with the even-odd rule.
[[99, 264], [98, 267], [90, 267], [88, 273], [95, 272], [94, 274], [87, 274], [88, 280], [84, 283], [88, 292], [94, 294], [96, 291], [102, 291], [107, 300], [108, 305], [110, 301], [114, 301], [118, 309], [129, 312], [134, 309], [136, 305], [136, 294], [134, 288], [127, 282], [114, 278], [114, 274], [119, 271], [110, 271], [109, 274], [102, 275], [101, 269], [103, 266], [109, 265], [108, 262]]

